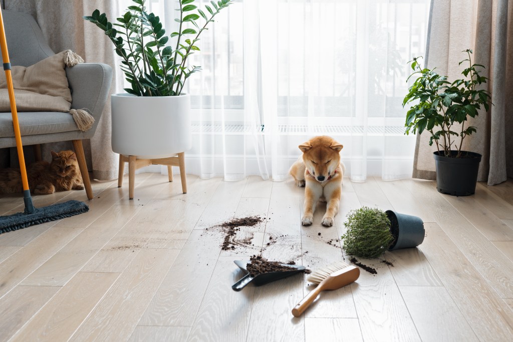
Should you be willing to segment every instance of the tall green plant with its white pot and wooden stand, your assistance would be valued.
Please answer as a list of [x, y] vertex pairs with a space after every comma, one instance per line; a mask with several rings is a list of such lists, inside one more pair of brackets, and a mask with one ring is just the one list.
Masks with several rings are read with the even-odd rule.
[[187, 79], [201, 70], [199, 66], [189, 66], [188, 59], [200, 51], [200, 35], [232, 0], [211, 1], [204, 10], [194, 4], [195, 0], [177, 0], [179, 8], [174, 20], [178, 30], [169, 35], [159, 16], [147, 12], [146, 0], [132, 1], [134, 4], [115, 22], [97, 9], [84, 16], [114, 45], [129, 84], [124, 89], [126, 93], [111, 96], [111, 143], [112, 150], [120, 154], [119, 177], [128, 161], [129, 197], [133, 198], [131, 170], [151, 164], [167, 165], [171, 181], [171, 166], [180, 166], [186, 193], [184, 153], [192, 147], [192, 132], [190, 95], [183, 90]]

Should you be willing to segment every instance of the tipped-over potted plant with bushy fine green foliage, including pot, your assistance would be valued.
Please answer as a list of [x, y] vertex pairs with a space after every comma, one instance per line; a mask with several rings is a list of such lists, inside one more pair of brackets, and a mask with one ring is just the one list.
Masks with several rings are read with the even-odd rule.
[[344, 250], [363, 258], [376, 258], [387, 250], [417, 247], [425, 235], [420, 217], [377, 208], [352, 210], [344, 226]]

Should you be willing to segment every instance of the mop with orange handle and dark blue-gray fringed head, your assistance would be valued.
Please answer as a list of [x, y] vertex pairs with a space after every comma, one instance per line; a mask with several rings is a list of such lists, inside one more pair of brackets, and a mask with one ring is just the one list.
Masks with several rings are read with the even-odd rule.
[[2, 47], [2, 57], [4, 59], [4, 70], [7, 79], [7, 89], [9, 92], [9, 102], [11, 104], [12, 125], [14, 136], [16, 138], [16, 149], [18, 152], [19, 169], [22, 173], [23, 201], [25, 211], [9, 216], [0, 216], [0, 234], [12, 230], [26, 228], [32, 225], [38, 225], [45, 222], [58, 220], [73, 215], [85, 213], [89, 207], [84, 202], [69, 200], [68, 202], [58, 203], [43, 208], [35, 208], [30, 196], [29, 183], [27, 180], [27, 170], [25, 169], [25, 158], [23, 156], [22, 136], [19, 132], [18, 113], [14, 99], [14, 87], [12, 85], [11, 64], [9, 63], [9, 54], [7, 51], [7, 39], [4, 30], [4, 18], [0, 9], [0, 46]]

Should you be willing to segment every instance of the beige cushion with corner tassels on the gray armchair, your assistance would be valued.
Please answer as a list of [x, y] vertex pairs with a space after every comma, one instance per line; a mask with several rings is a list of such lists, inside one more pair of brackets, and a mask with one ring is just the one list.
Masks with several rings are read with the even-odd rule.
[[[84, 59], [66, 50], [43, 59], [30, 67], [13, 66], [12, 83], [19, 112], [69, 112], [81, 131], [87, 131], [94, 118], [85, 109], [71, 109], [71, 91], [65, 67]], [[0, 72], [0, 112], [10, 112], [5, 73]]]

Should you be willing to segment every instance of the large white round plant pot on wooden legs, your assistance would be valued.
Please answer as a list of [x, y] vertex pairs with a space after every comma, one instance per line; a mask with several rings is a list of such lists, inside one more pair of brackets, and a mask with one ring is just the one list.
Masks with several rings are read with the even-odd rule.
[[113, 94], [112, 151], [166, 158], [192, 147], [190, 96]]

